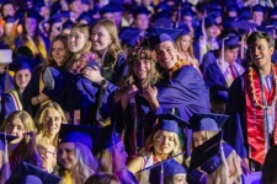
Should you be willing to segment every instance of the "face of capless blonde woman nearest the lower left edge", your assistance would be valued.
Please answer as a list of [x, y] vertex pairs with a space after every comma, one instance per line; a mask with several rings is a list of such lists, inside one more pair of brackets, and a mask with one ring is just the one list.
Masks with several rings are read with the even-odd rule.
[[10, 142], [11, 144], [19, 143], [23, 139], [24, 133], [26, 133], [24, 125], [20, 118], [14, 118], [12, 122], [8, 122], [4, 129], [4, 132], [18, 137], [12, 140]]

